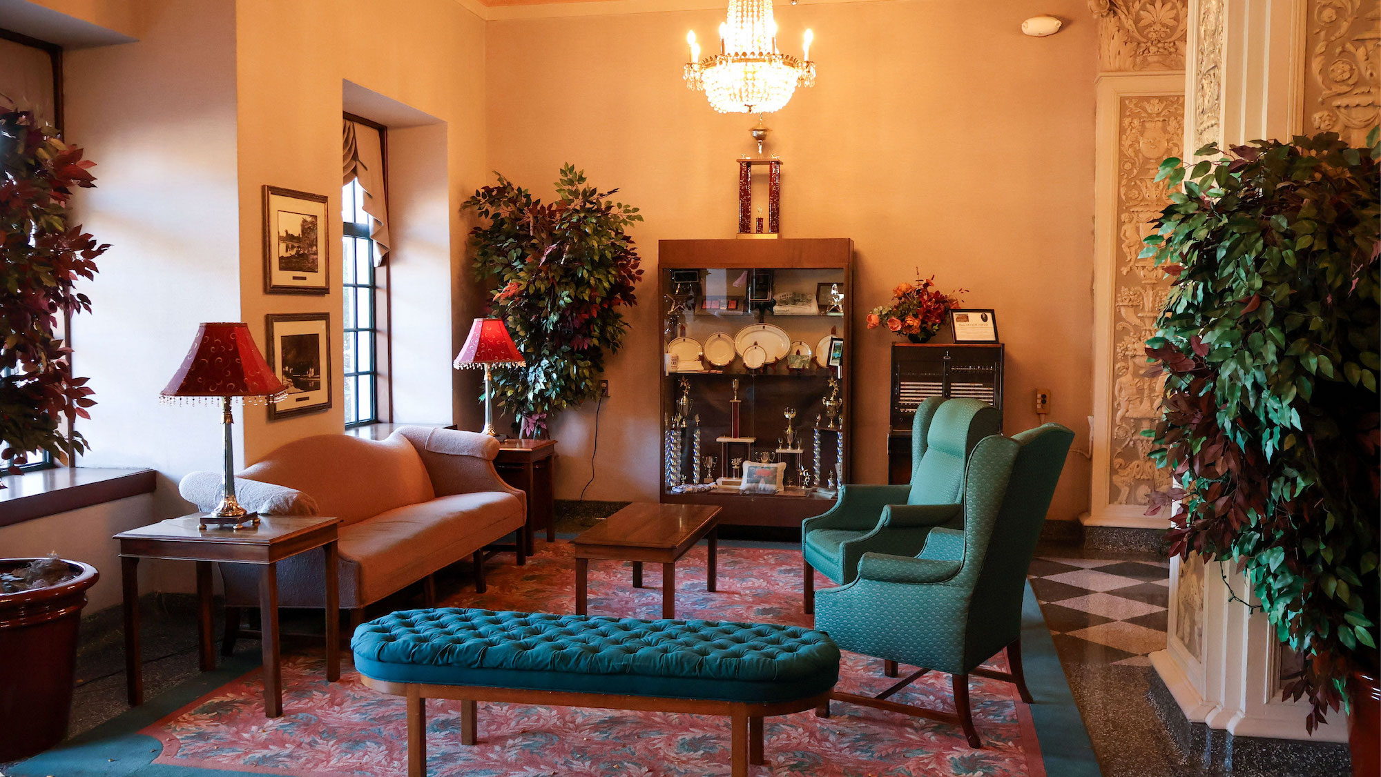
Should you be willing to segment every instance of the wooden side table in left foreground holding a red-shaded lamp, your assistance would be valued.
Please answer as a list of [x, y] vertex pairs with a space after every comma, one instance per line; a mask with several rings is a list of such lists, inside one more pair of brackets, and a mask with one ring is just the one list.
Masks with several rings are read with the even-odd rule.
[[336, 530], [338, 518], [261, 516], [249, 529], [197, 529], [200, 515], [188, 515], [122, 531], [120, 576], [124, 585], [124, 672], [130, 707], [144, 704], [139, 661], [139, 559], [196, 562], [197, 646], [202, 671], [215, 668], [211, 638], [211, 562], [260, 566], [260, 610], [264, 621], [264, 715], [283, 715], [283, 678], [279, 668], [278, 562], [311, 551], [326, 551], [326, 679], [341, 676], [340, 591]]

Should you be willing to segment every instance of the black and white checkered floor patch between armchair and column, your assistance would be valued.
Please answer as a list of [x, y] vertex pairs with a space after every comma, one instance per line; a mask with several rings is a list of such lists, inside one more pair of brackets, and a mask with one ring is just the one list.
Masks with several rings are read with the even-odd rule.
[[1039, 558], [1030, 582], [1065, 660], [1146, 667], [1166, 647], [1168, 562]]

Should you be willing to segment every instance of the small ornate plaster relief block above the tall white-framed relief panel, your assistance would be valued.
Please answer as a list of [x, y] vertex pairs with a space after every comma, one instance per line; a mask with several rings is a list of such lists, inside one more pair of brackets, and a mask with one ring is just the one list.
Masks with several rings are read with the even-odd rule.
[[1098, 18], [1098, 69], [1184, 70], [1188, 0], [1088, 0]]

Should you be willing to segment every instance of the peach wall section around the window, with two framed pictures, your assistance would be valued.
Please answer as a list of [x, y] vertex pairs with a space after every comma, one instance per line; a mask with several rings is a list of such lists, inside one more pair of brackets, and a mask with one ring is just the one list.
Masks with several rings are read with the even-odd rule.
[[[432, 232], [439, 228], [449, 237], [449, 246], [439, 254], [439, 262], [409, 273], [416, 287], [429, 288], [425, 297], [429, 309], [407, 312], [431, 316], [431, 331], [414, 330], [413, 337], [429, 338], [424, 352], [439, 362], [438, 370], [421, 378], [442, 384], [441, 392], [429, 395], [441, 399], [431, 403], [434, 407], [425, 420], [450, 420], [449, 389], [458, 380], [449, 368], [457, 351], [457, 324], [453, 322], [464, 319], [472, 308], [470, 284], [463, 280], [468, 276], [461, 272], [465, 226], [457, 208], [463, 192], [478, 186], [486, 170], [483, 23], [453, 0], [417, 0], [406, 14], [398, 12], [398, 4], [389, 0], [236, 3], [242, 316], [260, 338], [265, 331], [264, 316], [271, 312], [329, 311], [333, 324], [333, 407], [275, 422], [262, 411], [249, 413], [247, 461], [298, 437], [338, 433], [344, 424], [338, 221], [331, 226], [333, 290], [326, 297], [264, 294], [260, 236], [265, 184], [329, 195], [329, 213], [340, 213], [345, 80], [445, 123], [445, 142], [432, 148], [431, 170], [409, 159], [391, 175], [409, 170], [445, 174], [442, 190], [450, 201], [443, 208], [434, 208], [439, 224], [432, 225]], [[418, 243], [435, 244], [436, 237], [418, 237], [413, 244]], [[399, 257], [399, 261], [409, 262], [409, 257]], [[416, 262], [409, 266], [417, 269]], [[400, 349], [405, 345], [399, 344]], [[472, 413], [468, 407], [467, 411]]]

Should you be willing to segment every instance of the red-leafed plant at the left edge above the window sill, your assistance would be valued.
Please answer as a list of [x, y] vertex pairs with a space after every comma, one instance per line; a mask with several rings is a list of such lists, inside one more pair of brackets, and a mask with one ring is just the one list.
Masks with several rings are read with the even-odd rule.
[[69, 225], [72, 192], [95, 186], [91, 164], [33, 113], [0, 109], [0, 472], [37, 451], [64, 460], [86, 447], [68, 432], [95, 402], [87, 378], [72, 375], [58, 323], [91, 309], [75, 283], [94, 277], [108, 248]]

